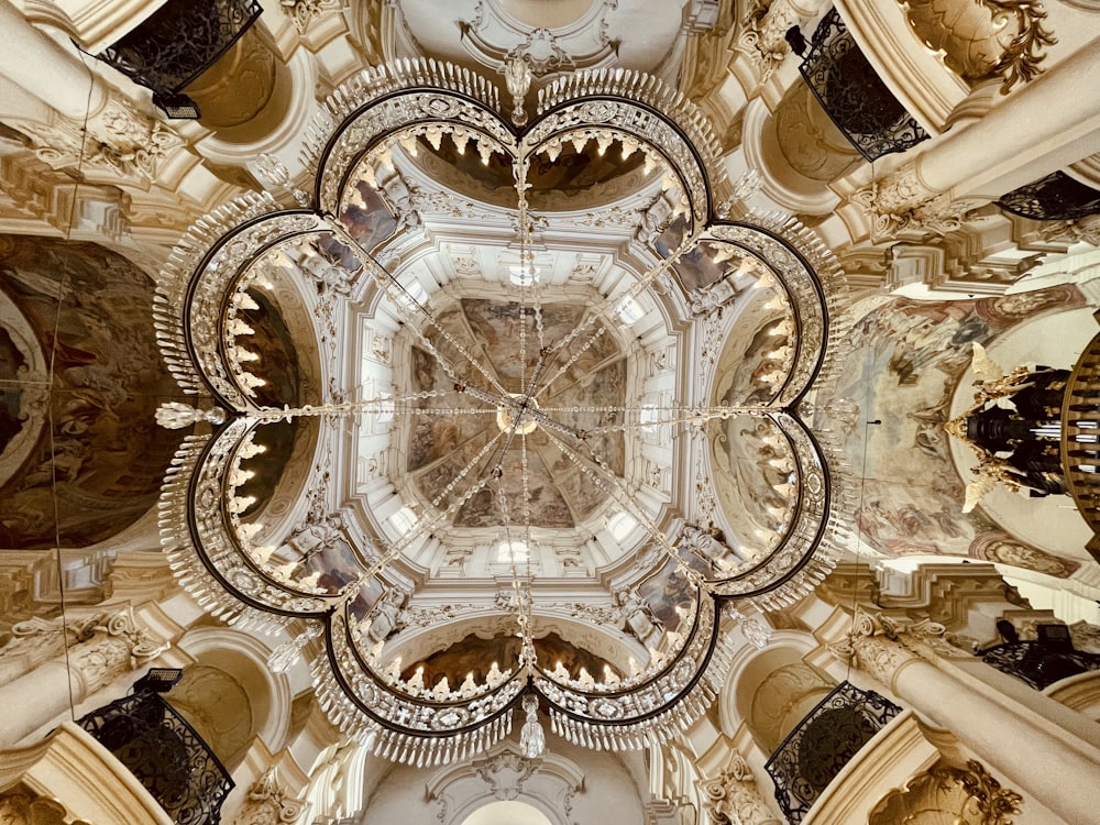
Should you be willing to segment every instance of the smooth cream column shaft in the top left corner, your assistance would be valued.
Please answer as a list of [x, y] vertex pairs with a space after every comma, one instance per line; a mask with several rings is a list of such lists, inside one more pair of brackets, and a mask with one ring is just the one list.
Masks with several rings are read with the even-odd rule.
[[[11, 0], [0, 0], [0, 75], [67, 118], [84, 119], [107, 103], [107, 85], [59, 43], [26, 22]], [[91, 58], [88, 58], [91, 59]]]

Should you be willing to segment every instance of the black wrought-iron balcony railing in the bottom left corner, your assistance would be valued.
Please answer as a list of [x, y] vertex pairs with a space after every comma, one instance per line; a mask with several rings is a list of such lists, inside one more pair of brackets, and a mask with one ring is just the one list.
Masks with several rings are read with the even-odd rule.
[[218, 825], [233, 780], [190, 725], [160, 695], [142, 691], [77, 724], [110, 750], [177, 825]]

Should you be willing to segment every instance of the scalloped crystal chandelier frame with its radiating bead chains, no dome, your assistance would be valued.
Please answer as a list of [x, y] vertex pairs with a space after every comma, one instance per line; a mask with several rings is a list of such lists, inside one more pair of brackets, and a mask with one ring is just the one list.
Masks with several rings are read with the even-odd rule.
[[[642, 748], [684, 729], [704, 712], [726, 676], [732, 642], [729, 634], [719, 632], [723, 617], [745, 627], [751, 619], [738, 604], [769, 609], [809, 592], [833, 568], [846, 537], [839, 514], [848, 508], [850, 496], [842, 461], [805, 424], [814, 394], [829, 381], [837, 358], [835, 342], [845, 334], [835, 306], [844, 289], [843, 274], [832, 254], [793, 219], [747, 212], [738, 197], [744, 193], [725, 180], [721, 147], [710, 125], [690, 101], [653, 78], [622, 70], [575, 74], [542, 89], [530, 124], [516, 125], [526, 120], [517, 107], [509, 122], [497, 89], [465, 69], [421, 61], [362, 72], [329, 98], [309, 130], [302, 161], [316, 183], [314, 190], [293, 188], [285, 167], [268, 158], [266, 177], [274, 188], [289, 191], [297, 208], [284, 208], [263, 193], [239, 198], [199, 220], [172, 254], [155, 309], [162, 352], [174, 376], [187, 393], [209, 399], [201, 410], [169, 404], [158, 415], [166, 426], [211, 425], [205, 428], [210, 430], [207, 435], [186, 437], [163, 487], [162, 540], [182, 586], [231, 623], [277, 629], [305, 622], [305, 632], [276, 650], [273, 667], [285, 667], [307, 648], [316, 651], [322, 646], [323, 654], [314, 657], [311, 669], [318, 698], [331, 721], [376, 754], [408, 763], [443, 763], [491, 747], [509, 733], [520, 704], [527, 713], [522, 738], [529, 755], [540, 750], [539, 713], [549, 717], [554, 733], [593, 748]], [[679, 245], [662, 253], [625, 295], [592, 307], [588, 320], [563, 339], [529, 343], [525, 339], [522, 345], [538, 353], [539, 366], [525, 374], [519, 392], [496, 386], [461, 346], [457, 359], [436, 349], [418, 331], [426, 323], [420, 301], [380, 262], [385, 256], [361, 246], [337, 217], [353, 197], [349, 191], [353, 172], [373, 169], [398, 144], [422, 139], [438, 147], [442, 136], [463, 145], [469, 142], [483, 160], [494, 153], [510, 158], [525, 265], [534, 223], [527, 175], [536, 154], [552, 162], [563, 142], [618, 141], [642, 151], [647, 163], [662, 165], [672, 190], [679, 193], [673, 216], [684, 228]], [[722, 196], [726, 199], [719, 206]], [[741, 219], [730, 218], [734, 213]], [[255, 376], [249, 373], [235, 338], [243, 329], [238, 311], [250, 305], [249, 288], [261, 268], [257, 261], [288, 240], [319, 233], [354, 254], [356, 278], [373, 282], [372, 288], [404, 308], [420, 345], [453, 376], [453, 389], [415, 397], [330, 398], [294, 408], [256, 400]], [[646, 290], [675, 288], [668, 273], [682, 255], [704, 243], [711, 252], [729, 249], [751, 256], [774, 274], [796, 329], [784, 374], [770, 399], [751, 407], [715, 405], [707, 395], [660, 406], [645, 419], [636, 408], [616, 408], [607, 410], [614, 416], [606, 429], [667, 426], [686, 439], [693, 428], [697, 431], [708, 421], [741, 415], [766, 419], [779, 433], [798, 477], [789, 521], [767, 552], [725, 572], [701, 569], [688, 558], [681, 537], [657, 524], [635, 503], [623, 480], [593, 454], [591, 433], [571, 424], [569, 410], [543, 409], [534, 400], [539, 376], [552, 373], [552, 365], [568, 361], [598, 334], [593, 319], [614, 319], [624, 300]], [[518, 289], [538, 317], [534, 265], [530, 274]], [[693, 323], [702, 329], [714, 312], [721, 307], [703, 307]], [[498, 493], [503, 461], [471, 462], [452, 480], [455, 497], [449, 507], [421, 518], [397, 540], [374, 537], [375, 547], [362, 553], [367, 560], [362, 570], [339, 591], [276, 569], [271, 548], [254, 546], [255, 528], [240, 517], [244, 505], [237, 491], [242, 458], [256, 449], [252, 439], [257, 427], [296, 418], [360, 421], [383, 411], [397, 417], [427, 415], [431, 410], [425, 408], [425, 397], [443, 394], [483, 405], [487, 416], [495, 416], [492, 430], [499, 429], [498, 439], [522, 441], [525, 461], [525, 439], [539, 428], [583, 471], [586, 483], [640, 524], [651, 554], [672, 564], [693, 591], [693, 614], [680, 625], [673, 649], [654, 656], [629, 676], [602, 681], [543, 669], [534, 650], [538, 624], [534, 576], [529, 565], [513, 558], [513, 592], [506, 609], [514, 618], [514, 635], [521, 640], [518, 661], [501, 670], [494, 663], [483, 684], [455, 689], [446, 680], [442, 689], [425, 686], [403, 679], [399, 668], [386, 667], [381, 642], [371, 646], [363, 632], [364, 617], [353, 610], [358, 594], [372, 581], [391, 590], [387, 570], [410, 542], [474, 494]], [[522, 488], [526, 495], [526, 479]], [[496, 501], [501, 526], [509, 537], [528, 535], [524, 514], [509, 513], [503, 494]], [[311, 639], [320, 641], [310, 645]]]

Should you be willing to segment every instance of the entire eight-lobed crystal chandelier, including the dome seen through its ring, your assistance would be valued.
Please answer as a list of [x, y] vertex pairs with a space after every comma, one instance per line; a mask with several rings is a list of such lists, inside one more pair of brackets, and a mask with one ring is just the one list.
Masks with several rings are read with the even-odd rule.
[[266, 158], [297, 208], [198, 221], [155, 311], [205, 399], [158, 415], [198, 424], [161, 502], [180, 585], [294, 634], [275, 669], [322, 645], [332, 722], [418, 765], [520, 705], [529, 754], [540, 714], [595, 748], [683, 729], [735, 636], [767, 644], [744, 612], [807, 592], [846, 535], [811, 420], [845, 332], [831, 253], [749, 213], [653, 78], [506, 110], [450, 65], [364, 70], [311, 127], [312, 191]]

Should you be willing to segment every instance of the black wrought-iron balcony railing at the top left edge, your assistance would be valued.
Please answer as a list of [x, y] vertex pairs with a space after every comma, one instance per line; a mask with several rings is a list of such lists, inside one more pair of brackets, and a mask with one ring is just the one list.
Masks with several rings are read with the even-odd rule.
[[213, 65], [262, 12], [257, 0], [168, 0], [97, 56], [153, 89], [157, 106], [174, 100], [194, 107], [180, 90]]

